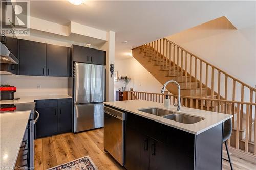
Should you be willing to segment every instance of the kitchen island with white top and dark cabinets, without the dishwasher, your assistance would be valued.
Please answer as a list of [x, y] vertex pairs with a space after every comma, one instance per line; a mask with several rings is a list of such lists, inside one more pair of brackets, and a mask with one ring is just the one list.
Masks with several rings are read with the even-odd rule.
[[[136, 169], [221, 169], [223, 122], [232, 115], [144, 101], [105, 102], [124, 112], [124, 167]], [[181, 123], [169, 115], [147, 113], [148, 108], [198, 118]], [[167, 117], [166, 117], [167, 116]], [[179, 120], [180, 121], [180, 120]]]

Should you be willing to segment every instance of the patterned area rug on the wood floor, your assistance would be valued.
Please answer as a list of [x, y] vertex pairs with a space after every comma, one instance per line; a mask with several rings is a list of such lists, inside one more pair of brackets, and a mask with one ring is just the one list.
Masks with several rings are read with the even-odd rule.
[[70, 161], [68, 163], [52, 167], [47, 170], [63, 170], [63, 169], [65, 169], [65, 170], [71, 170], [71, 169], [74, 169], [74, 170], [80, 170], [80, 169], [96, 170], [97, 167], [91, 160], [90, 156], [85, 156], [85, 157]]

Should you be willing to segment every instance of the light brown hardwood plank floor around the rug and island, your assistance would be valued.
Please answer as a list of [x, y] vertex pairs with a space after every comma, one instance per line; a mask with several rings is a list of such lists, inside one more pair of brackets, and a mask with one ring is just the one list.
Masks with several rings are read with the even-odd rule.
[[[65, 133], [35, 140], [35, 169], [48, 169], [89, 155], [98, 169], [124, 169], [104, 151], [103, 129], [78, 134]], [[227, 157], [226, 152], [223, 152]], [[231, 154], [234, 169], [256, 169], [256, 162], [249, 162]], [[223, 160], [223, 169], [230, 169]]]

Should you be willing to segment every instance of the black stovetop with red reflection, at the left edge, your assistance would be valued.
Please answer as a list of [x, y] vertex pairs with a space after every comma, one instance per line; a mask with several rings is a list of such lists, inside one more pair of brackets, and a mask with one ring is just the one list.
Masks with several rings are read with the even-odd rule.
[[18, 104], [0, 104], [0, 113], [30, 111], [35, 109], [35, 102]]

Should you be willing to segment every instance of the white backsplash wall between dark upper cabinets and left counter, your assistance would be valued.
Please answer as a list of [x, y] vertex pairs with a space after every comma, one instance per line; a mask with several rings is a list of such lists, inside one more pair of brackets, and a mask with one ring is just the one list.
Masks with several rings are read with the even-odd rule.
[[[17, 87], [15, 98], [37, 95], [67, 95], [68, 78], [47, 76], [0, 75], [1, 84]], [[37, 89], [41, 85], [41, 89]]]

